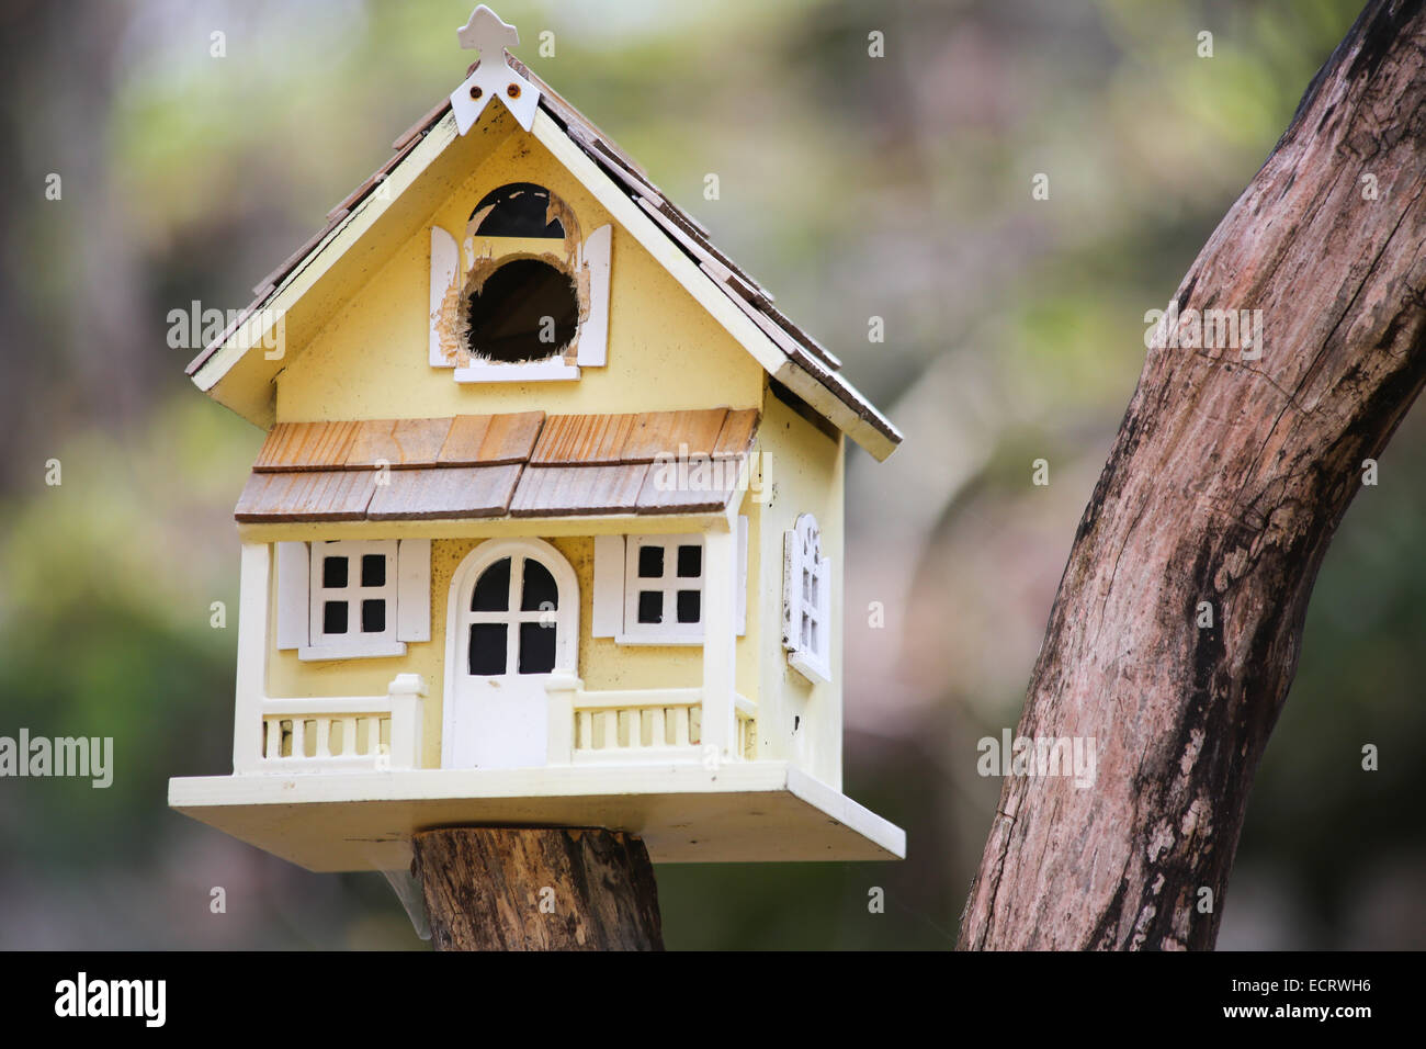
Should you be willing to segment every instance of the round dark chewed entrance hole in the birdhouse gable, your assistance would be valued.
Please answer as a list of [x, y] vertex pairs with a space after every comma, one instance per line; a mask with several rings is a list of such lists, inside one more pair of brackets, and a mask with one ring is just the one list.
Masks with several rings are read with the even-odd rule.
[[516, 258], [485, 278], [468, 300], [472, 357], [503, 364], [558, 355], [579, 327], [569, 274], [538, 258]]

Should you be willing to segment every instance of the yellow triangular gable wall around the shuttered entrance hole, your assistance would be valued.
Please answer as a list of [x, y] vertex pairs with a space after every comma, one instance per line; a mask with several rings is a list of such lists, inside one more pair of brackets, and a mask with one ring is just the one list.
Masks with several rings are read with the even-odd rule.
[[[568, 382], [456, 382], [432, 368], [431, 225], [463, 240], [471, 208], [513, 181], [560, 197], [580, 231], [609, 213], [532, 136], [515, 130], [395, 254], [351, 288], [348, 304], [277, 378], [277, 420], [425, 418], [499, 411], [616, 412], [754, 408], [763, 371], [620, 227], [613, 230], [609, 363]], [[558, 241], [556, 241], [558, 243]], [[462, 273], [465, 253], [462, 250]]]

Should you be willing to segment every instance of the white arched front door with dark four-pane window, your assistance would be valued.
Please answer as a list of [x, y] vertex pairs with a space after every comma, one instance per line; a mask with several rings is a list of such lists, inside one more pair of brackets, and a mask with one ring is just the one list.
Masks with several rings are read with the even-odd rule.
[[579, 651], [575, 569], [543, 539], [488, 539], [451, 579], [443, 768], [532, 768], [549, 758], [552, 678]]

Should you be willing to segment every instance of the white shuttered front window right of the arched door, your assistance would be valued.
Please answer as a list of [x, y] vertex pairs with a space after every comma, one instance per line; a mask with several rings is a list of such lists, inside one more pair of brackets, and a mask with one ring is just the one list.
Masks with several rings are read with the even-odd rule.
[[[642, 547], [663, 547], [663, 575], [659, 579], [639, 578], [639, 549]], [[677, 575], [679, 547], [699, 547], [699, 575]], [[702, 532], [653, 534], [653, 535], [597, 535], [595, 537], [595, 625], [592, 635], [613, 638], [620, 645], [702, 645], [703, 612], [707, 608], [704, 577], [707, 572], [707, 547]], [[699, 622], [677, 621], [677, 591], [699, 591]], [[665, 594], [665, 612], [672, 611], [672, 621], [639, 622], [639, 592], [660, 589]], [[737, 518], [737, 635], [747, 634], [747, 518]]]

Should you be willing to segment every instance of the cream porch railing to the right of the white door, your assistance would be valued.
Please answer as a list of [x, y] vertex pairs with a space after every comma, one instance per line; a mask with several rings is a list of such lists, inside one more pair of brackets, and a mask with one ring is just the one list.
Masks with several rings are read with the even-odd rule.
[[[734, 755], [756, 754], [756, 706], [734, 696]], [[703, 745], [703, 689], [656, 688], [586, 692], [570, 699], [573, 761], [667, 761], [699, 758]]]

